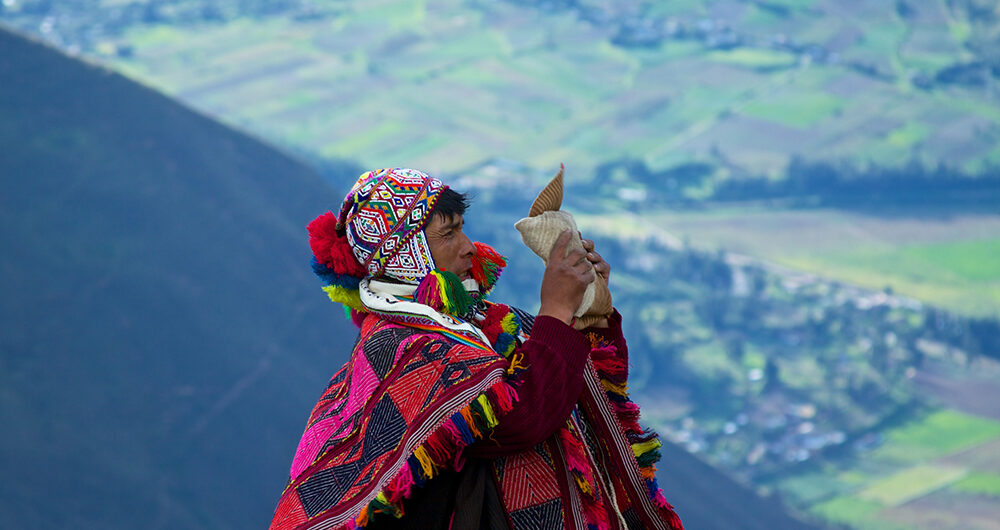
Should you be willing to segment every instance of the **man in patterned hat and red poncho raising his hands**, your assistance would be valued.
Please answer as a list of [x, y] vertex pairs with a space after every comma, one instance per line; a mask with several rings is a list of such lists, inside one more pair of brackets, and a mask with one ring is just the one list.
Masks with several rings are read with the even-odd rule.
[[573, 314], [610, 267], [561, 235], [537, 316], [485, 300], [505, 264], [467, 202], [411, 169], [362, 175], [309, 225], [313, 270], [361, 329], [313, 408], [271, 528], [673, 528], [655, 434], [625, 395], [615, 312]]

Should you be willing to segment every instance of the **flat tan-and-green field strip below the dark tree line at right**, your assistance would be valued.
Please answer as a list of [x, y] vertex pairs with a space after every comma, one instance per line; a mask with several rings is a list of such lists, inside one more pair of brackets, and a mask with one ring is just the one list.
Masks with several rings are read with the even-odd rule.
[[892, 287], [949, 310], [1000, 315], [1000, 216], [976, 212], [728, 207], [580, 216], [605, 233], [687, 238], [870, 289]]

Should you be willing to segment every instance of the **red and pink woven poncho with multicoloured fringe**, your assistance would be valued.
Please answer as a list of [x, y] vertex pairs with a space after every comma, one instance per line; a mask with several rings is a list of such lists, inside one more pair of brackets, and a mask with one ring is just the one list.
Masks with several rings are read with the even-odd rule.
[[[514, 408], [518, 379], [532, 369], [518, 358], [531, 317], [490, 305], [465, 321], [409, 298], [406, 286], [362, 282], [369, 314], [309, 417], [272, 529], [405, 517], [403, 501], [462, 469], [469, 446], [490, 444]], [[511, 528], [682, 528], [656, 486], [659, 441], [625, 395], [624, 342], [606, 335], [590, 334], [583, 391], [565, 425], [490, 459]]]

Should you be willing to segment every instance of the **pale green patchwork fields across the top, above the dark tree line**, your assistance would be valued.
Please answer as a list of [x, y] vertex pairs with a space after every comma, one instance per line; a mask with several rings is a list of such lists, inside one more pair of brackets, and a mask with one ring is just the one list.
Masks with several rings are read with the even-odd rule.
[[[228, 123], [363, 166], [1000, 163], [993, 85], [934, 81], [992, 31], [960, 2], [290, 1], [212, 16], [195, 0], [124, 3], [146, 10], [133, 17], [89, 3], [0, 14]], [[85, 30], [102, 9], [116, 23]]]

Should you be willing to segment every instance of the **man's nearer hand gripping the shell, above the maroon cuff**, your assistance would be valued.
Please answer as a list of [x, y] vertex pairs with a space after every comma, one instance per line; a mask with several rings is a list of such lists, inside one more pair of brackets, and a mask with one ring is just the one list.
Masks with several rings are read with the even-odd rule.
[[[566, 251], [571, 238], [572, 232], [564, 231], [549, 253], [545, 275], [542, 276], [541, 308], [538, 311], [539, 315], [558, 318], [567, 325], [573, 321], [573, 315], [583, 301], [584, 291], [595, 278], [587, 252], [581, 249]], [[610, 267], [607, 270], [610, 271]]]

